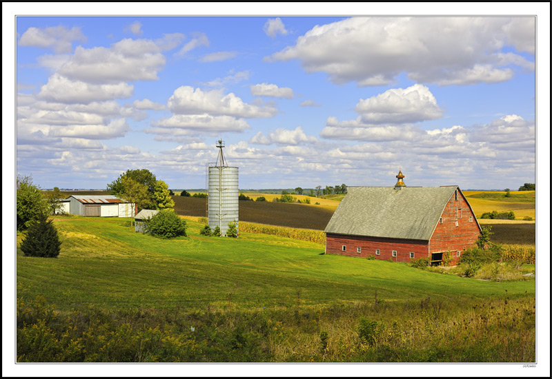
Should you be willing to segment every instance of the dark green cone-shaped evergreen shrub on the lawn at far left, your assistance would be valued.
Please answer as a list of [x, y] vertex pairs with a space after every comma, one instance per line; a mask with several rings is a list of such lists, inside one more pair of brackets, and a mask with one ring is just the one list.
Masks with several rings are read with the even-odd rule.
[[42, 215], [39, 221], [30, 225], [27, 235], [21, 243], [21, 251], [25, 256], [39, 256], [42, 258], [56, 258], [61, 250], [61, 242], [57, 229]]

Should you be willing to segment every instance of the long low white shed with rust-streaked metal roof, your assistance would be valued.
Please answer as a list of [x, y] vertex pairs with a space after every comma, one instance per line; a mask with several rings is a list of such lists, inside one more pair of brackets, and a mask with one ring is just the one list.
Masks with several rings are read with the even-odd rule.
[[95, 217], [132, 217], [135, 204], [112, 195], [71, 195], [70, 214]]

